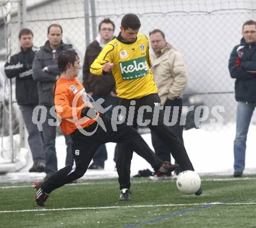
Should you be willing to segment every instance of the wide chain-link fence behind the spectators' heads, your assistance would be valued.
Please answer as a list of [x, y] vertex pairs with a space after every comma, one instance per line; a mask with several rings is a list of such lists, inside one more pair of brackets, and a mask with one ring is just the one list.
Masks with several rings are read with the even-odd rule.
[[[17, 36], [20, 30], [20, 2], [12, 1], [11, 55], [19, 51]], [[227, 64], [230, 52], [240, 42], [244, 21], [255, 20], [254, 0], [23, 2], [26, 2], [26, 26], [34, 32], [34, 45], [44, 45], [47, 41], [47, 27], [58, 23], [63, 27], [63, 42], [72, 44], [81, 60], [84, 58], [86, 46], [97, 36], [98, 23], [102, 19], [109, 17], [113, 20], [116, 24], [115, 35], [118, 35], [123, 15], [136, 13], [141, 20], [140, 32], [148, 35], [150, 31], [159, 28], [165, 32], [166, 40], [182, 53], [189, 75], [184, 100], [189, 105], [204, 104], [209, 110], [209, 115], [201, 122], [201, 128], [222, 131], [223, 126], [234, 123], [234, 80], [229, 76]], [[2, 19], [1, 32], [6, 28], [3, 24]], [[4, 80], [5, 78], [1, 77], [2, 85]], [[0, 89], [2, 93], [3, 87]], [[212, 114], [214, 106], [222, 106], [225, 109], [221, 113], [223, 124], [218, 126], [210, 124], [210, 120], [215, 118]]]

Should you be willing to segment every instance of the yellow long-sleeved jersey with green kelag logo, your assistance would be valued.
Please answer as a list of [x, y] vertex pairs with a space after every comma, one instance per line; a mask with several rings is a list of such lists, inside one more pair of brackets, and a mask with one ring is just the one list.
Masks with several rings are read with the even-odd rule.
[[[133, 43], [122, 41], [119, 36], [106, 45], [97, 59], [91, 64], [90, 71], [102, 75], [105, 63], [113, 63], [112, 73], [116, 82], [117, 96], [124, 99], [138, 99], [157, 93], [153, 74], [150, 71], [148, 38], [138, 33]], [[104, 75], [103, 75], [104, 77]]]

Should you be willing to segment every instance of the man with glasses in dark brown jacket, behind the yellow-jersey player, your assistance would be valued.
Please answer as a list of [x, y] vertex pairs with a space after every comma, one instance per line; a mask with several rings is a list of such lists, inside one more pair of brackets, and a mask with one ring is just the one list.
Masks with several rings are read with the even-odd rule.
[[[104, 99], [102, 107], [106, 108], [112, 105], [106, 112], [106, 116], [112, 117], [112, 110], [116, 104], [116, 88], [115, 80], [112, 73], [105, 74], [104, 77], [90, 73], [90, 66], [101, 52], [102, 48], [108, 44], [114, 37], [115, 24], [109, 18], [102, 20], [98, 26], [99, 36], [88, 45], [86, 55], [84, 56], [83, 66], [83, 86], [86, 92], [93, 97], [94, 100]], [[116, 162], [117, 151], [115, 149], [114, 161]], [[93, 163], [88, 169], [104, 169], [105, 161], [108, 158], [106, 146], [102, 144], [94, 154]]]

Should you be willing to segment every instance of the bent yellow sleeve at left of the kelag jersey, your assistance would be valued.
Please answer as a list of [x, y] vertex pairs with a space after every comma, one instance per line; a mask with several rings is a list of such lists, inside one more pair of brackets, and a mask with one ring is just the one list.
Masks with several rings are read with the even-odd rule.
[[90, 72], [95, 75], [102, 75], [102, 67], [105, 63], [113, 63], [112, 51], [114, 46], [112, 44], [106, 45], [99, 53], [98, 57], [91, 64]]

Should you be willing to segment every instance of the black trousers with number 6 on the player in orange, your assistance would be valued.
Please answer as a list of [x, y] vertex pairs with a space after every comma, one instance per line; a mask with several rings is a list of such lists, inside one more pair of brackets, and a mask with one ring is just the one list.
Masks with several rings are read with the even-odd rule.
[[[103, 115], [101, 118], [106, 127], [106, 132], [97, 122], [95, 122], [88, 128], [84, 128], [87, 132], [93, 132], [97, 128], [95, 133], [91, 136], [86, 136], [79, 130], [72, 133], [74, 163], [73, 165], [70, 164], [63, 169], [60, 169], [42, 183], [42, 189], [44, 189], [46, 193], [51, 193], [52, 190], [81, 178], [87, 171], [88, 165], [93, 159], [98, 146], [108, 142], [127, 143], [127, 146], [148, 161], [155, 171], [161, 167], [162, 161], [150, 149], [148, 144], [134, 128], [123, 123], [117, 125], [117, 131], [113, 131], [111, 125], [113, 122], [111, 123], [111, 119], [104, 117]], [[124, 153], [127, 152], [124, 151]]]

